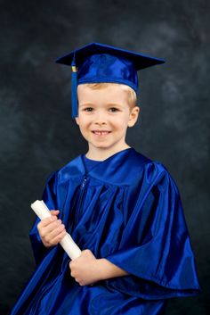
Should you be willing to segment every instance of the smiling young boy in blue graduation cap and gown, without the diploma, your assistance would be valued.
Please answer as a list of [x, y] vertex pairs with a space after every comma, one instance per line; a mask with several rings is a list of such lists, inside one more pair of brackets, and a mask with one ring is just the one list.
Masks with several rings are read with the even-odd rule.
[[[57, 62], [72, 65], [88, 151], [47, 181], [52, 217], [31, 230], [37, 269], [12, 315], [163, 314], [166, 299], [198, 294], [190, 238], [173, 178], [125, 136], [137, 70], [164, 61], [93, 43]], [[82, 249], [74, 261], [58, 245], [66, 231]]]

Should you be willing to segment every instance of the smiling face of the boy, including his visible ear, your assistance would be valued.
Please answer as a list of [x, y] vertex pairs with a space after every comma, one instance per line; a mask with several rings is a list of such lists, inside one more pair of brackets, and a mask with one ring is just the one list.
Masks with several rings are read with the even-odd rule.
[[133, 127], [139, 107], [131, 108], [128, 95], [117, 84], [101, 89], [86, 85], [77, 87], [80, 131], [89, 145], [89, 156], [104, 151], [117, 153], [124, 150], [127, 127]]

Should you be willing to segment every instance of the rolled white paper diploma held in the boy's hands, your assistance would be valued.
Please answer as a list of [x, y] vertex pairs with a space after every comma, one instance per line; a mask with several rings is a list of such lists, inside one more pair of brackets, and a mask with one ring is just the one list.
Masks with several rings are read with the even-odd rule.
[[[36, 200], [35, 203], [31, 203], [31, 208], [35, 211], [36, 215], [39, 217], [40, 220], [45, 218], [49, 218], [52, 216], [51, 211], [47, 208], [46, 204], [43, 200]], [[73, 241], [72, 237], [67, 234], [63, 237], [60, 242], [62, 248], [66, 253], [68, 253], [70, 259], [73, 261], [77, 257], [80, 256], [81, 250], [77, 246], [77, 244]]]

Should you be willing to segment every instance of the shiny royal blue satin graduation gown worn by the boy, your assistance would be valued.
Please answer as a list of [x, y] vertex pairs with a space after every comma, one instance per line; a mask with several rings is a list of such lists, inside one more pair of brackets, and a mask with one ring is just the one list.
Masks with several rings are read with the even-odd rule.
[[52, 174], [44, 202], [81, 249], [130, 275], [79, 286], [61, 246], [42, 245], [37, 220], [37, 269], [12, 315], [160, 315], [166, 299], [198, 294], [180, 195], [161, 163], [129, 148], [87, 171], [80, 155]]

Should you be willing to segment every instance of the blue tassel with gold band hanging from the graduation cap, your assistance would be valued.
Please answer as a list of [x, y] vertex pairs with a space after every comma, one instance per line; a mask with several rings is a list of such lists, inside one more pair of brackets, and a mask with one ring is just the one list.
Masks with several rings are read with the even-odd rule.
[[77, 67], [75, 62], [75, 54], [71, 63], [71, 116], [78, 116], [78, 100], [77, 100]]

